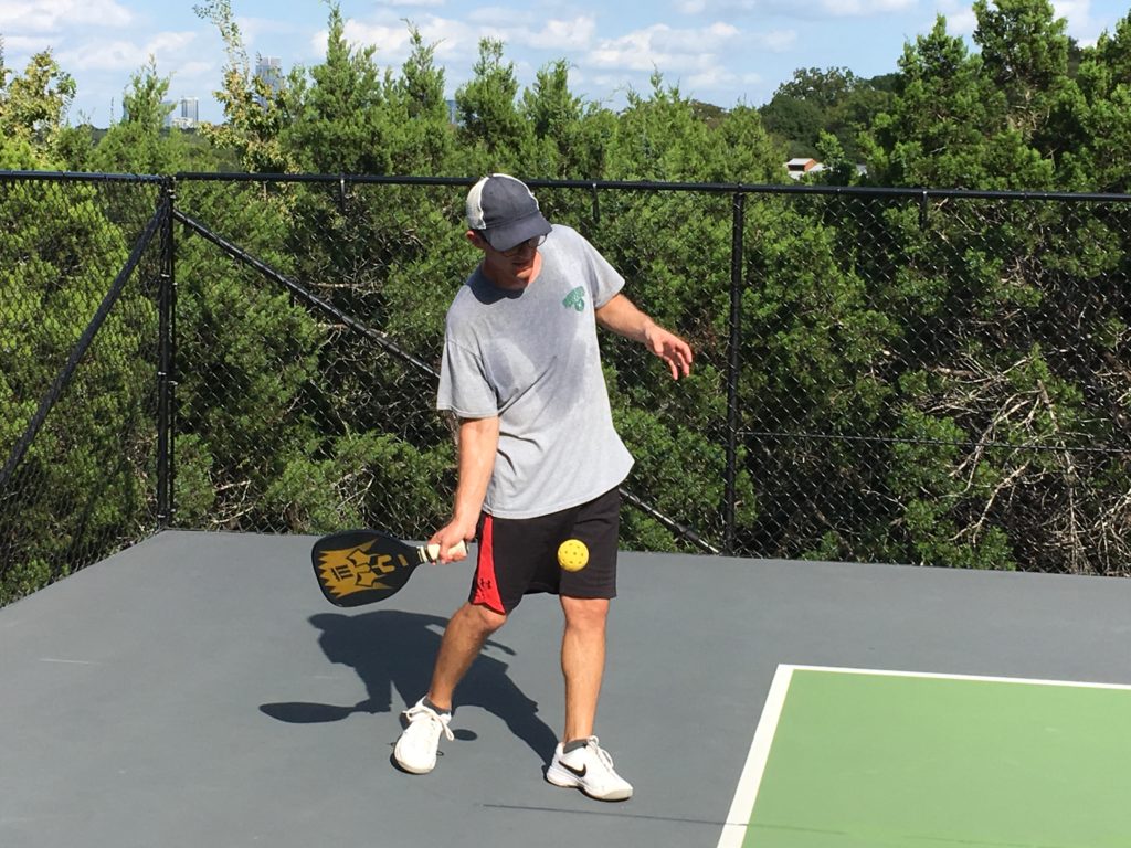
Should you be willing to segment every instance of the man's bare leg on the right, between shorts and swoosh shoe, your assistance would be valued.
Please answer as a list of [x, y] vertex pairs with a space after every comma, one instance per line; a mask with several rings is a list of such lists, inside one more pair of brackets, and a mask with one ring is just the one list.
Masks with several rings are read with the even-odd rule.
[[562, 675], [566, 677], [563, 743], [593, 735], [597, 700], [605, 673], [607, 598], [561, 598], [566, 614], [562, 634]]

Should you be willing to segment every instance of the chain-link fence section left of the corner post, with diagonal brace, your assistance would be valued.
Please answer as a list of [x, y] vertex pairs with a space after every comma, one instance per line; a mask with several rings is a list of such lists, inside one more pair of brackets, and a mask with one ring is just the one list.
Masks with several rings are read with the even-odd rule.
[[156, 179], [0, 175], [0, 603], [157, 523]]

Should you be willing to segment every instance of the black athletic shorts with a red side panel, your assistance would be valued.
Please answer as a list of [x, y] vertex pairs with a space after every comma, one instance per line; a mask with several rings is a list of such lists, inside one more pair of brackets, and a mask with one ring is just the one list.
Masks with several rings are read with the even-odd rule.
[[[524, 595], [616, 597], [621, 495], [613, 488], [588, 503], [537, 518], [480, 517], [480, 556], [468, 600], [509, 615]], [[580, 539], [589, 563], [580, 571], [558, 564], [558, 546]]]

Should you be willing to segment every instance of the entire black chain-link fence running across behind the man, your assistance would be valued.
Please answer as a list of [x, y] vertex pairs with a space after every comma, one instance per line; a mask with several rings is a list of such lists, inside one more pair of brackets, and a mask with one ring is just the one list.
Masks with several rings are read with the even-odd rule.
[[[121, 287], [147, 304], [128, 329], [93, 334], [64, 381], [114, 367], [137, 380], [97, 416], [119, 441], [96, 465], [128, 466], [145, 505], [90, 551], [166, 522], [428, 536], [454, 484], [451, 429], [433, 400], [443, 314], [476, 261], [463, 228], [470, 182], [0, 175], [0, 215], [46, 234], [6, 248], [16, 270], [0, 271], [9, 591], [23, 585], [11, 574], [40, 563], [84, 564], [46, 533], [81, 509], [31, 495], [58, 490], [44, 468], [63, 474], [58, 457], [100, 432], [61, 410], [63, 390], [29, 438], [83, 337], [86, 322], [52, 301], [77, 291], [75, 277], [97, 298]], [[1126, 573], [1131, 198], [532, 185], [696, 349], [692, 378], [674, 383], [639, 346], [603, 339], [637, 458], [625, 546]], [[81, 263], [57, 256], [61, 215], [88, 222], [68, 230]], [[150, 228], [164, 235], [123, 271], [162, 215]], [[72, 276], [20, 270], [41, 266]], [[95, 348], [115, 332], [135, 336], [112, 366], [115, 354]], [[81, 424], [66, 444], [52, 415]], [[78, 475], [60, 491], [71, 504], [94, 488]], [[27, 553], [44, 545], [46, 556]]]

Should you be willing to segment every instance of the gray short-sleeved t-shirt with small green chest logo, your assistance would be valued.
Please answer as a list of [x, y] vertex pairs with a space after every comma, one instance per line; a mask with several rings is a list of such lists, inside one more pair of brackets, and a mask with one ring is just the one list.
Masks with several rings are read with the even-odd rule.
[[533, 518], [620, 484], [632, 457], [613, 429], [595, 308], [624, 279], [579, 233], [555, 225], [542, 270], [520, 291], [476, 269], [448, 310], [437, 408], [499, 416], [483, 509]]

